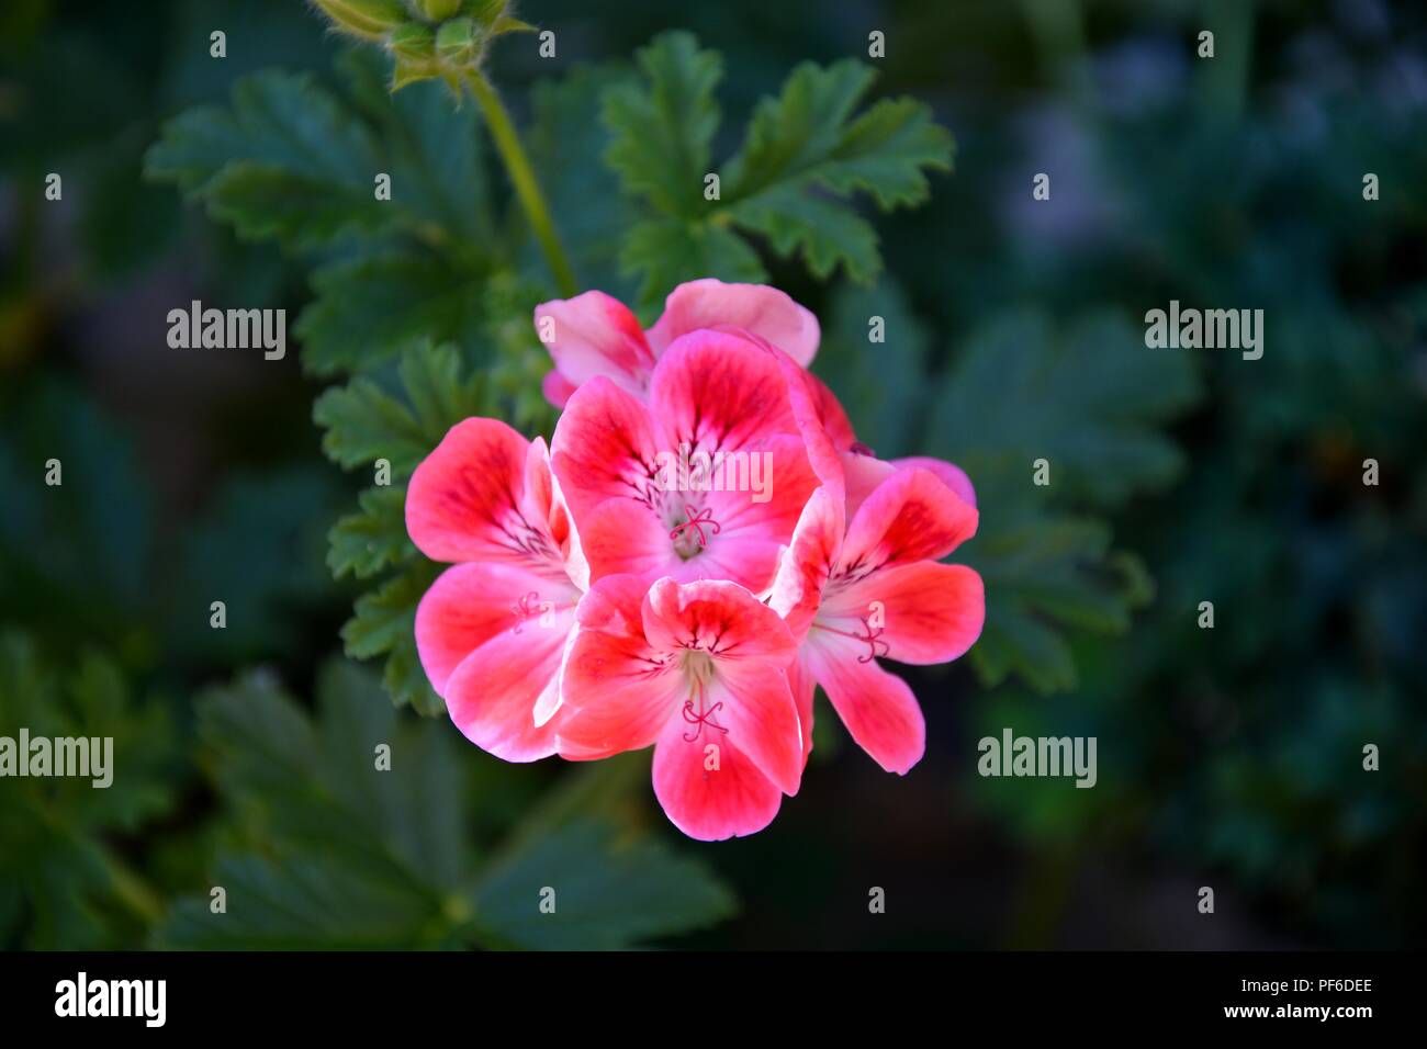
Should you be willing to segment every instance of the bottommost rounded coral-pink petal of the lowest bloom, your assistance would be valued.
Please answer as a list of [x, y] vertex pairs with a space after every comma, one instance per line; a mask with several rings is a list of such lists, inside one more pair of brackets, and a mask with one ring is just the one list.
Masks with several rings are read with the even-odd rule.
[[[654, 748], [654, 795], [676, 828], [699, 841], [723, 841], [762, 831], [783, 795], [731, 741], [685, 739], [675, 718]], [[719, 735], [714, 732], [714, 735]]]

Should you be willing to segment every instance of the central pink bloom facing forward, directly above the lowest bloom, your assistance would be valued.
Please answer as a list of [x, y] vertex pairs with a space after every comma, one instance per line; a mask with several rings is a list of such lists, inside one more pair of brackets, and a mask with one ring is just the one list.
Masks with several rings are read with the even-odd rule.
[[[735, 331], [691, 331], [665, 347], [646, 395], [596, 375], [555, 427], [551, 461], [591, 578], [765, 591], [818, 485], [778, 358]], [[722, 462], [722, 478], [671, 484], [671, 461], [696, 457]]]

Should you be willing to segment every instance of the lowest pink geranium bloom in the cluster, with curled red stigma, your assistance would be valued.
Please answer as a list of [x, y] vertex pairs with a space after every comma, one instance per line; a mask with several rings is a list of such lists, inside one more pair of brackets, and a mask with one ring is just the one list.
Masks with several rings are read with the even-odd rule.
[[631, 575], [596, 582], [577, 612], [559, 749], [608, 758], [654, 745], [654, 791], [691, 838], [752, 833], [796, 794], [803, 749], [783, 621], [732, 582]]

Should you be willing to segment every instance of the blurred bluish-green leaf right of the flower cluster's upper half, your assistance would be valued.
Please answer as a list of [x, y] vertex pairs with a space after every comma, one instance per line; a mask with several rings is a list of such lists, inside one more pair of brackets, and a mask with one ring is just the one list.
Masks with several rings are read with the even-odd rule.
[[1183, 455], [1162, 432], [1194, 404], [1189, 354], [1150, 350], [1114, 313], [1063, 331], [1039, 313], [987, 323], [962, 351], [933, 408], [932, 442], [960, 462], [995, 451], [1050, 464], [1050, 492], [1096, 507], [1163, 488]]

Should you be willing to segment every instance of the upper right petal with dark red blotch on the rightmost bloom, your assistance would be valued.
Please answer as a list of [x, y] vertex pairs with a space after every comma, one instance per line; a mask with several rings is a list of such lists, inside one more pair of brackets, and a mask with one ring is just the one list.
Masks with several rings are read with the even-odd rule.
[[976, 508], [935, 474], [898, 470], [866, 498], [848, 525], [835, 575], [936, 559], [976, 534]]

